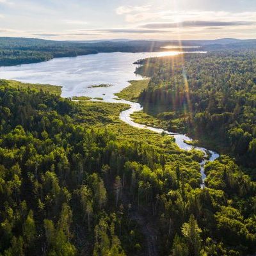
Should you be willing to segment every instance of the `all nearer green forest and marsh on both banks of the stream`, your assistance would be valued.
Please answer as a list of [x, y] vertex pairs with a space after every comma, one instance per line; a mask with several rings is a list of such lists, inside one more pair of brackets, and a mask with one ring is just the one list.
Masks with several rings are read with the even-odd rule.
[[134, 120], [220, 152], [205, 188], [204, 154], [124, 124], [128, 105], [1, 79], [0, 255], [256, 252], [255, 51], [137, 63], [149, 79], [128, 91], [144, 107]]

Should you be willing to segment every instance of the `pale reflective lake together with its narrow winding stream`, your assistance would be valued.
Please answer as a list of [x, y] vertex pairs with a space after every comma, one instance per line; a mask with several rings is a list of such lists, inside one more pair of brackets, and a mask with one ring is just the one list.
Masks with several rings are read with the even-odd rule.
[[[198, 54], [205, 53], [195, 51]], [[157, 133], [170, 134], [175, 138], [177, 145], [184, 150], [195, 148], [205, 154], [205, 160], [200, 163], [202, 184], [204, 188], [204, 166], [206, 156], [211, 154], [208, 161], [214, 161], [219, 157], [216, 152], [202, 147], [193, 147], [184, 142], [191, 141], [186, 134], [174, 134], [154, 127], [137, 124], [131, 118], [131, 114], [143, 108], [139, 103], [127, 100], [116, 100], [115, 93], [120, 92], [129, 85], [127, 81], [140, 80], [141, 76], [134, 74], [134, 61], [160, 56], [174, 56], [182, 52], [140, 52], [125, 53], [111, 52], [99, 53], [72, 58], [55, 58], [51, 61], [33, 63], [12, 67], [0, 67], [1, 79], [14, 79], [26, 83], [56, 84], [62, 86], [62, 97], [88, 96], [102, 98], [104, 102], [125, 103], [131, 108], [120, 113], [120, 120], [140, 129], [149, 129]], [[92, 85], [111, 84], [109, 87], [93, 87]]]

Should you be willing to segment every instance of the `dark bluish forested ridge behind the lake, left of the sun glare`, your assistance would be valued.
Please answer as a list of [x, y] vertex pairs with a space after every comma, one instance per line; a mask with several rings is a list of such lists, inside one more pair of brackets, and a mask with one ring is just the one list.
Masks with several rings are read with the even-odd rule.
[[19, 65], [51, 60], [59, 57], [74, 57], [98, 52], [148, 52], [159, 51], [163, 42], [68, 42], [36, 38], [0, 38], [0, 66]]

